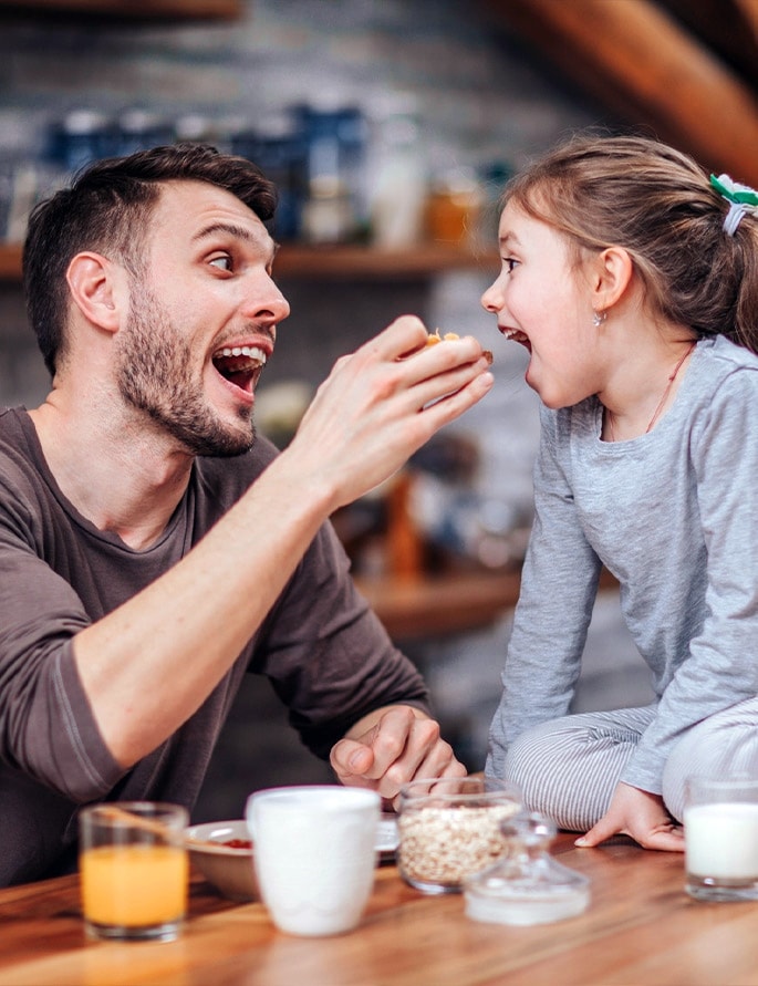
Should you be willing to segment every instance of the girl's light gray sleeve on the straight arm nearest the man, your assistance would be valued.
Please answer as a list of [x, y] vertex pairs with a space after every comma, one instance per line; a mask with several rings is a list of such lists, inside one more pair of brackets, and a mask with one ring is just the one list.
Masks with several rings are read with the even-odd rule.
[[491, 776], [502, 776], [508, 747], [525, 729], [567, 714], [598, 591], [600, 560], [581, 530], [562, 461], [569, 413], [540, 408], [534, 520], [490, 727]]

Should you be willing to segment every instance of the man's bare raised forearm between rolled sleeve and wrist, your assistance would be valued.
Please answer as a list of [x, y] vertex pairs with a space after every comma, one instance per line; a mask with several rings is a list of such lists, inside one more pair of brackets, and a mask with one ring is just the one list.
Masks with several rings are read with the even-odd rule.
[[124, 767], [193, 715], [270, 611], [330, 512], [301, 490], [274, 460], [180, 562], [76, 635], [83, 687]]

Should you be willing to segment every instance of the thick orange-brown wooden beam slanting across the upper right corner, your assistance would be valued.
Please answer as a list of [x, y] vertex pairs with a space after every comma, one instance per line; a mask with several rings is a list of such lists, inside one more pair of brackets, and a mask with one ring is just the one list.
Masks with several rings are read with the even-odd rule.
[[[739, 0], [752, 11], [755, 0]], [[758, 186], [758, 98], [721, 61], [648, 0], [489, 0], [601, 104], [689, 152], [705, 167]]]

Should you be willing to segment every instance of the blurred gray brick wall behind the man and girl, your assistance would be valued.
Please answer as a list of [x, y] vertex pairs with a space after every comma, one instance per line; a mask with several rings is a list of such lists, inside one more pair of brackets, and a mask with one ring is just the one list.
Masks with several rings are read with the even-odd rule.
[[[429, 176], [518, 168], [572, 129], [609, 124], [488, 22], [484, 9], [458, 0], [248, 0], [239, 22], [159, 25], [3, 14], [0, 178], [19, 160], [44, 157], [50, 128], [82, 108], [115, 118], [139, 107], [184, 127], [200, 118], [222, 145], [240, 125], [293, 103], [349, 102], [374, 120], [397, 97], [413, 106]], [[495, 273], [355, 283], [288, 278], [282, 288], [292, 314], [261, 391], [292, 378], [314, 385], [339, 354], [401, 312], [471, 332], [495, 351], [497, 375], [495, 391], [459, 425], [480, 446], [479, 492], [528, 510], [537, 398], [523, 384], [519, 347], [505, 343], [480, 309]], [[20, 288], [0, 283], [0, 404], [32, 406], [48, 385]], [[477, 769], [503, 636], [507, 627], [445, 648], [433, 642], [418, 655], [437, 683], [443, 718], [447, 706], [448, 724]], [[267, 782], [323, 779], [323, 766], [298, 758], [260, 685], [232, 716], [199, 818], [239, 813], [242, 795]], [[255, 746], [261, 748], [261, 737], [268, 743], [259, 757], [251, 754], [251, 718], [259, 720]]]

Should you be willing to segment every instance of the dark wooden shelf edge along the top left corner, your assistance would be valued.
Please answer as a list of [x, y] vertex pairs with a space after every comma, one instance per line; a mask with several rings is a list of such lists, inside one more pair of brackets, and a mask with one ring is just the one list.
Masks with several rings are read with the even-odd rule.
[[232, 20], [241, 0], [0, 0], [0, 13], [49, 13], [121, 20]]

